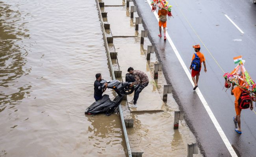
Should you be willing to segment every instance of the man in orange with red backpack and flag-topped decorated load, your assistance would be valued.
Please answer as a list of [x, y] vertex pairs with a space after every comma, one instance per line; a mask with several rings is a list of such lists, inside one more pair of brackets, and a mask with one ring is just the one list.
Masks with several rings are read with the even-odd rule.
[[245, 69], [245, 60], [242, 60], [242, 56], [234, 57], [233, 59], [234, 63], [237, 64], [236, 68], [231, 73], [225, 73], [223, 77], [225, 79], [225, 87], [228, 89], [232, 86], [231, 95], [235, 97], [236, 110], [236, 116], [233, 117], [233, 120], [235, 124], [238, 124], [235, 131], [241, 134], [241, 110], [247, 108], [253, 110], [252, 101], [256, 101], [256, 84]]

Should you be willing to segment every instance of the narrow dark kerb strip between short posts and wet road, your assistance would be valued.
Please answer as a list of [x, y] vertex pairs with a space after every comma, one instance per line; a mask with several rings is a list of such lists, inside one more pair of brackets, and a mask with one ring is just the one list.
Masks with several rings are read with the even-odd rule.
[[[140, 9], [139, 9], [139, 6], [137, 5], [137, 0], [133, 0], [133, 3], [134, 3], [134, 5], [137, 6], [137, 14], [138, 14], [140, 17], [142, 17], [141, 12], [140, 12]], [[146, 24], [145, 24], [145, 22], [144, 22], [144, 20], [143, 20], [143, 17], [142, 17], [142, 26], [144, 27], [145, 30], [148, 30], [148, 29], [147, 29], [147, 26], [146, 26]], [[148, 31], [148, 39], [149, 39], [149, 41], [151, 42], [152, 46], [155, 46], [156, 57], [158, 58], [159, 63], [161, 63], [161, 58], [160, 58], [160, 55], [159, 55], [159, 53], [158, 53], [158, 47], [156, 46], [154, 40], [152, 39], [151, 34], [150, 34], [150, 31]], [[170, 78], [166, 75], [167, 71], [166, 71], [165, 67], [163, 67], [162, 71], [163, 71], [163, 75], [164, 75], [164, 77], [165, 77], [165, 80], [166, 80], [167, 84], [172, 85]], [[200, 153], [201, 153], [204, 157], [206, 157], [206, 154], [205, 154], [205, 152], [204, 152], [204, 149], [203, 149], [203, 147], [202, 147], [202, 144], [201, 144], [200, 141], [198, 140], [197, 132], [195, 131], [195, 128], [191, 125], [191, 122], [190, 122], [189, 118], [187, 117], [186, 111], [184, 110], [184, 108], [183, 108], [183, 106], [182, 106], [182, 104], [181, 104], [181, 102], [180, 102], [180, 98], [179, 98], [179, 96], [178, 96], [178, 94], [177, 94], [177, 92], [176, 92], [176, 90], [175, 90], [174, 88], [173, 88], [172, 93], [173, 93], [173, 98], [174, 98], [174, 100], [176, 101], [176, 103], [177, 103], [178, 106], [179, 106], [179, 110], [180, 110], [180, 111], [184, 111], [184, 120], [185, 120], [187, 126], [189, 127], [189, 129], [191, 130], [191, 132], [193, 133], [193, 135], [195, 135], [195, 137], [196, 137], [196, 141], [197, 141], [197, 144], [198, 144], [198, 148], [199, 148], [199, 150], [200, 150]]]

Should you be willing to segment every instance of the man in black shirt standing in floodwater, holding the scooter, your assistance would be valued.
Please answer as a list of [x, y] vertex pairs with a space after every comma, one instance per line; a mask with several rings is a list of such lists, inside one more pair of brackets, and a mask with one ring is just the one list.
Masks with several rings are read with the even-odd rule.
[[[108, 83], [105, 83], [105, 88], [102, 89], [101, 85], [100, 85], [100, 81], [101, 81], [101, 74], [97, 73], [95, 75], [96, 80], [94, 82], [94, 99], [96, 101], [100, 100], [102, 98], [102, 93], [104, 91], [106, 91], [107, 87], [108, 87]], [[100, 88], [99, 88], [100, 87]]]

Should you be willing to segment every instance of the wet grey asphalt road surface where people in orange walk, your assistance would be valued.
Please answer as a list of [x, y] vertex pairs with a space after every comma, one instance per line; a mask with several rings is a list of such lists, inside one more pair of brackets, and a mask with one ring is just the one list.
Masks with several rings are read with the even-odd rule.
[[[164, 42], [163, 38], [157, 36], [158, 21], [151, 13], [150, 6], [145, 0], [135, 0], [135, 3], [139, 15], [143, 18], [144, 27], [149, 31], [150, 39], [156, 46], [165, 77], [173, 85], [176, 100], [186, 112], [186, 121], [197, 136], [201, 152], [207, 157], [230, 157], [169, 42]], [[235, 68], [233, 57], [243, 55], [246, 60], [245, 68], [252, 79], [256, 79], [256, 5], [252, 0], [169, 0], [169, 4], [173, 5], [174, 18], [167, 21], [167, 31], [187, 67], [190, 66], [194, 53], [192, 46], [195, 44], [201, 45], [201, 52], [206, 58], [208, 71], [204, 73], [202, 68], [198, 82], [202, 95], [237, 155], [255, 157], [256, 114], [243, 110], [243, 133], [238, 135], [234, 131], [234, 96], [230, 95], [230, 90], [225, 92], [226, 89], [223, 89], [223, 74]], [[224, 16], [225, 14], [244, 34]]]

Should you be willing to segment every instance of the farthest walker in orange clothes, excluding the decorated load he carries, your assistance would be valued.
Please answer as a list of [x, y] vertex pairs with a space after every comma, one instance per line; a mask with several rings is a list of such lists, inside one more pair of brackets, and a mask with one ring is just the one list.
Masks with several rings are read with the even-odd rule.
[[162, 9], [159, 9], [158, 10], [158, 17], [159, 17], [159, 22], [158, 22], [158, 25], [159, 25], [159, 31], [160, 31], [160, 34], [158, 35], [158, 37], [162, 37], [162, 29], [161, 27], [163, 26], [163, 35], [164, 35], [164, 40], [166, 40], [166, 21], [167, 21], [167, 10], [162, 8]]

